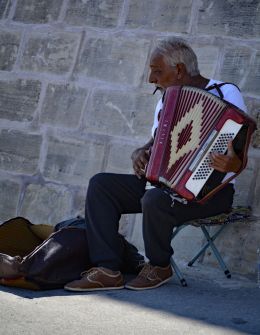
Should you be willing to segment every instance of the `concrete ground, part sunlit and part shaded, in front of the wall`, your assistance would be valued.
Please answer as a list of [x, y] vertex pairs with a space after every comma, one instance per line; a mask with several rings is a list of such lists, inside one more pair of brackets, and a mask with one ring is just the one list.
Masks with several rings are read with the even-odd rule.
[[33, 292], [0, 286], [0, 334], [260, 334], [255, 279], [196, 265], [154, 290]]

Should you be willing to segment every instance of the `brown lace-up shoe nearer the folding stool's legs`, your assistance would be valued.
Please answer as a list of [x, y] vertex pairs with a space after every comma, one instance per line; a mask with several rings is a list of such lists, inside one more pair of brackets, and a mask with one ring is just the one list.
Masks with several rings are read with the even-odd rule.
[[128, 282], [125, 288], [130, 290], [148, 290], [151, 288], [156, 288], [172, 277], [172, 268], [170, 265], [166, 267], [152, 266], [151, 264], [145, 264], [139, 275]]

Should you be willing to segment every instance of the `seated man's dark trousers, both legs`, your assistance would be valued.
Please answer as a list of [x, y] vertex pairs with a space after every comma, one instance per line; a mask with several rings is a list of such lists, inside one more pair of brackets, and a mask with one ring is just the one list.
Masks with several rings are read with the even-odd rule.
[[145, 190], [135, 175], [99, 173], [91, 178], [86, 198], [90, 259], [96, 266], [118, 270], [123, 245], [118, 235], [121, 214], [143, 213], [145, 254], [152, 265], [167, 266], [173, 254], [173, 228], [186, 221], [222, 213], [231, 207], [233, 185], [205, 204], [173, 201], [162, 188]]

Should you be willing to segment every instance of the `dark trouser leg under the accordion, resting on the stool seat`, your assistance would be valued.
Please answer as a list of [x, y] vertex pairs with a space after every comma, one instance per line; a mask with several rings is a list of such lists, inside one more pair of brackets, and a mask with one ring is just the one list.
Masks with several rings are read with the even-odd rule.
[[217, 215], [231, 207], [233, 186], [228, 185], [205, 204], [187, 205], [174, 201], [160, 188], [147, 191], [142, 198], [145, 253], [152, 265], [167, 266], [173, 254], [173, 228], [186, 221]]

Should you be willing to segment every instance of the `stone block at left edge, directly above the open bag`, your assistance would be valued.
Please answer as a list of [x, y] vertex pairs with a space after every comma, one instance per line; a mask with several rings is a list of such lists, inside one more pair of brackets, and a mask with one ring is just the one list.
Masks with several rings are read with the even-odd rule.
[[17, 215], [20, 185], [10, 180], [0, 180], [0, 223]]

